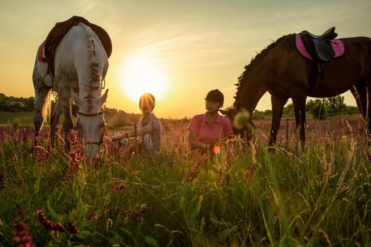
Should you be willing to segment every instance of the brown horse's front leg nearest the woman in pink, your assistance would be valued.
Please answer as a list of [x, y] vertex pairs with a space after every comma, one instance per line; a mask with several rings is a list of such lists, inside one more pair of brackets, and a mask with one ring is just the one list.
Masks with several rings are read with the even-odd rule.
[[276, 144], [277, 133], [281, 124], [283, 107], [285, 107], [285, 104], [288, 102], [288, 98], [271, 95], [271, 102], [272, 102], [272, 124], [271, 133], [269, 135], [269, 146]]

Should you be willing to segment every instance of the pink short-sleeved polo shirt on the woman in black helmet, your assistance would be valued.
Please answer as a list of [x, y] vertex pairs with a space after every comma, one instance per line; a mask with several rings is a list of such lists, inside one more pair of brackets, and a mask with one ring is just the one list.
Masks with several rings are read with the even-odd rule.
[[196, 139], [202, 143], [216, 143], [220, 138], [232, 135], [232, 126], [230, 121], [218, 114], [216, 121], [208, 123], [206, 113], [196, 115], [192, 118], [187, 127], [188, 131], [196, 131]]

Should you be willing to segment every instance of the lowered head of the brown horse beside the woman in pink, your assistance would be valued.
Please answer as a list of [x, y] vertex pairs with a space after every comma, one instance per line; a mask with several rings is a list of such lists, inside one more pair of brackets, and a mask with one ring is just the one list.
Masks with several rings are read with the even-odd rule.
[[251, 113], [247, 109], [240, 107], [240, 104], [235, 104], [234, 107], [220, 109], [219, 112], [224, 114], [230, 120], [233, 134], [240, 135], [241, 138], [249, 137], [249, 133], [255, 129], [254, 123], [251, 121]]

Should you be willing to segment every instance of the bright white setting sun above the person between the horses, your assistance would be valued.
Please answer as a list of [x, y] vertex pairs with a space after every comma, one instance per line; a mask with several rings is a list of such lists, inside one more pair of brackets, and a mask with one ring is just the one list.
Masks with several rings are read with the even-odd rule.
[[124, 62], [121, 84], [122, 92], [134, 102], [138, 102], [145, 92], [151, 92], [158, 100], [167, 91], [167, 78], [162, 64], [139, 56]]

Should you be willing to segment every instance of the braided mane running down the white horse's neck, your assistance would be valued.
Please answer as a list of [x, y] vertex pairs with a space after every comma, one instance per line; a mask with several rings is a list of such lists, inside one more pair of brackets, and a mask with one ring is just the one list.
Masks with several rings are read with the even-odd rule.
[[[99, 63], [94, 61], [94, 56], [96, 55], [95, 50], [95, 43], [93, 40], [93, 37], [90, 33], [90, 28], [88, 28], [86, 25], [83, 25], [80, 23], [79, 25], [82, 25], [85, 30], [85, 39], [88, 44], [88, 88], [91, 90], [94, 90], [96, 88], [100, 88], [100, 75], [99, 75]], [[95, 83], [99, 82], [99, 85], [94, 85]]]

